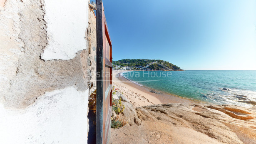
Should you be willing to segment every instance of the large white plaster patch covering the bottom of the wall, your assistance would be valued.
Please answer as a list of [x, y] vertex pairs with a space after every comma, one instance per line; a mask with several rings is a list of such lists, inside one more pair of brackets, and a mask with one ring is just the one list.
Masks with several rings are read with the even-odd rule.
[[0, 103], [0, 144], [87, 143], [88, 89], [46, 92], [26, 109]]

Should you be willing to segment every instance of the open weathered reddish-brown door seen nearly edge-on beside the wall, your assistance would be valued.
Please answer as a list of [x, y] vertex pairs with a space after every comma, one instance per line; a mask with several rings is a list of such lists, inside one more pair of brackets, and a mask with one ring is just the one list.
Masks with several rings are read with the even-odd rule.
[[96, 0], [97, 29], [97, 111], [96, 142], [106, 144], [110, 138], [112, 115], [112, 42], [102, 0]]

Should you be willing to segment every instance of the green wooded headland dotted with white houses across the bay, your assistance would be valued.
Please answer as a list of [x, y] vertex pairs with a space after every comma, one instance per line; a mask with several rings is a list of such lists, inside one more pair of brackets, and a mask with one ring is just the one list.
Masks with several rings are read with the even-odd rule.
[[113, 70], [181, 70], [180, 67], [164, 60], [123, 59], [113, 61]]

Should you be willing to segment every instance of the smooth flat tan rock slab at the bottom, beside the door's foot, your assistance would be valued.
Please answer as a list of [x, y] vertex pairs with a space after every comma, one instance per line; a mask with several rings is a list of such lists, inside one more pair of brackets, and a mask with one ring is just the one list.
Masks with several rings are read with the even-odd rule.
[[144, 121], [141, 126], [133, 125], [111, 129], [110, 144], [202, 144], [219, 143], [213, 138], [189, 128], [173, 127], [164, 123]]

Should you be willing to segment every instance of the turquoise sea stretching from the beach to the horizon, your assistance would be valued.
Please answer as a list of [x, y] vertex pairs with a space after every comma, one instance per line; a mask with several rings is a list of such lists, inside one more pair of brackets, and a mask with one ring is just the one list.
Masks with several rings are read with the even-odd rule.
[[145, 87], [189, 99], [214, 104], [256, 105], [256, 70], [186, 70], [168, 74], [137, 71], [122, 75]]

